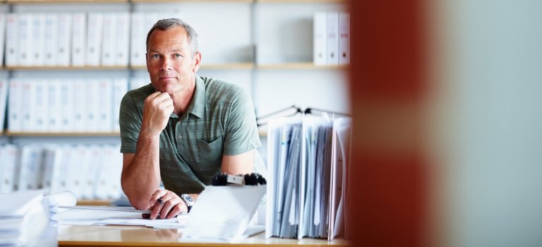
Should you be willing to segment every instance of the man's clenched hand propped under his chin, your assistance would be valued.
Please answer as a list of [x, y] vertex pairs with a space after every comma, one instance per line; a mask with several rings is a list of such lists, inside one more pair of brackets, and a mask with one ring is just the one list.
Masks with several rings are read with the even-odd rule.
[[141, 131], [159, 135], [167, 126], [173, 112], [173, 100], [167, 92], [153, 92], [145, 99]]

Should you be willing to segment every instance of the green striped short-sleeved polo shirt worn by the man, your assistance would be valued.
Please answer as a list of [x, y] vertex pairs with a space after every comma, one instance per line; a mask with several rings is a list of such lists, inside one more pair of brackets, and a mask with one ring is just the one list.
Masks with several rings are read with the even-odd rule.
[[[151, 84], [128, 91], [121, 102], [121, 152], [135, 153], [145, 98]], [[160, 176], [177, 194], [200, 193], [220, 170], [222, 155], [239, 155], [261, 145], [250, 95], [239, 86], [196, 75], [188, 110], [171, 114], [160, 134]], [[144, 185], [142, 185], [144, 186]]]

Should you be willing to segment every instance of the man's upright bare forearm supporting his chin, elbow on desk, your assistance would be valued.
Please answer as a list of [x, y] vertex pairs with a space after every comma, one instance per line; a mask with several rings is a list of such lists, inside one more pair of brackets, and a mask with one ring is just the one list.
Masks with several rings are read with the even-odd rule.
[[146, 210], [149, 200], [160, 184], [159, 135], [140, 133], [131, 163], [122, 173], [122, 188], [130, 203]]

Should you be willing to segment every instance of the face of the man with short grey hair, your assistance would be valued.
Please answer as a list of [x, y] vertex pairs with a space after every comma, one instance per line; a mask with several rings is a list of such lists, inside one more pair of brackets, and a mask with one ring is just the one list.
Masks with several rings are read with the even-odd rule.
[[157, 91], [186, 90], [194, 83], [198, 70], [199, 54], [192, 56], [186, 30], [183, 27], [154, 30], [147, 48], [147, 71]]

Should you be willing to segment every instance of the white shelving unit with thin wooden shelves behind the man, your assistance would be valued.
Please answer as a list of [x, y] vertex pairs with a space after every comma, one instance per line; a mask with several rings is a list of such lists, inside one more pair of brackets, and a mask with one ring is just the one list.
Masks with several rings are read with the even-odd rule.
[[[312, 15], [345, 11], [344, 0], [8, 0], [4, 13], [168, 12], [199, 35], [198, 74], [240, 85], [251, 93], [257, 116], [296, 104], [349, 112], [348, 66], [312, 63]], [[3, 78], [148, 78], [145, 66], [4, 66]], [[4, 130], [0, 143], [119, 144], [116, 132]], [[260, 135], [265, 138], [265, 133]], [[265, 146], [260, 149], [265, 159]], [[92, 200], [85, 200], [85, 203]], [[103, 200], [98, 200], [103, 202]]]

